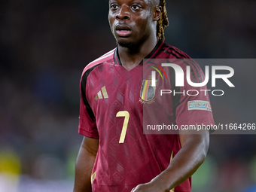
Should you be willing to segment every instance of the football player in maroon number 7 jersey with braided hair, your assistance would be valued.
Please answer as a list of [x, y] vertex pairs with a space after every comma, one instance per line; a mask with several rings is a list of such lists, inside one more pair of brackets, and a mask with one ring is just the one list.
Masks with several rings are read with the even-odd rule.
[[[206, 158], [209, 131], [143, 134], [143, 107], [166, 105], [166, 113], [156, 117], [179, 127], [211, 125], [209, 96], [183, 94], [191, 87], [175, 87], [170, 68], [152, 88], [151, 73], [144, 75], [143, 69], [157, 66], [153, 59], [177, 59], [184, 71], [190, 66], [194, 82], [203, 81], [203, 72], [196, 62], [185, 60], [187, 54], [163, 42], [169, 24], [165, 0], [110, 0], [108, 20], [117, 47], [90, 62], [81, 77], [78, 132], [84, 139], [74, 191], [189, 192], [190, 176]], [[163, 86], [180, 94], [160, 97]], [[199, 101], [207, 108], [189, 105]]]

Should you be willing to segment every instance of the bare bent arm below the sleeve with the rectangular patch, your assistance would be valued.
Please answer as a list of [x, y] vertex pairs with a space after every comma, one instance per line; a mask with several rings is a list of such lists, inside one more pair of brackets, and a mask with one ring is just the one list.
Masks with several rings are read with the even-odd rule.
[[[199, 134], [200, 133], [200, 134]], [[133, 192], [164, 192], [181, 184], [196, 172], [206, 158], [209, 148], [209, 131], [189, 134], [180, 130], [181, 150], [172, 159], [166, 170], [147, 184], [139, 184]]]

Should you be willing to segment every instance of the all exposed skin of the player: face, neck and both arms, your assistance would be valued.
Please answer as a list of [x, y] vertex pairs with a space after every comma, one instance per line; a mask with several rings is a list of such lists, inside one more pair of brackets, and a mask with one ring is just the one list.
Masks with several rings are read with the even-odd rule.
[[[157, 44], [156, 26], [161, 7], [157, 0], [110, 0], [108, 20], [117, 40], [120, 61], [131, 70]], [[169, 191], [190, 178], [203, 163], [209, 148], [209, 131], [179, 131], [181, 150], [166, 170], [146, 184], [139, 184], [133, 192]], [[75, 167], [74, 192], [92, 191], [90, 175], [99, 148], [99, 139], [84, 137]]]

